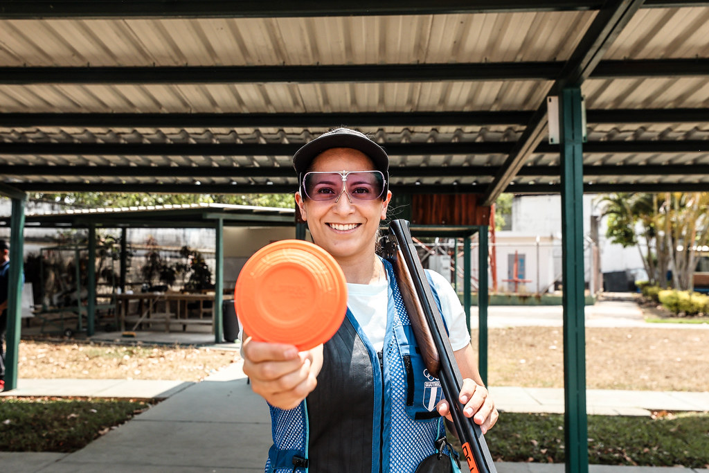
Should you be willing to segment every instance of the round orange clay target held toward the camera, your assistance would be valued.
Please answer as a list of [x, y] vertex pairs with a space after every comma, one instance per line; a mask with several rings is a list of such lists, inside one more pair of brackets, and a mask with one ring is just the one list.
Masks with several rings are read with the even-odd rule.
[[245, 333], [254, 340], [309, 350], [330, 340], [345, 318], [345, 274], [319, 246], [281, 240], [246, 262], [234, 304]]

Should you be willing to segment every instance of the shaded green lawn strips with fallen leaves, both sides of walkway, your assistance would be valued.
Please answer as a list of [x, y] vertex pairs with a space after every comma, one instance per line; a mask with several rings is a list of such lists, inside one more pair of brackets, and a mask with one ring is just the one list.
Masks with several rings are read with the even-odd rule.
[[[4, 399], [0, 451], [74, 452], [149, 406], [116, 399]], [[559, 414], [503, 412], [486, 440], [496, 461], [558, 463], [564, 461], [563, 426]], [[588, 438], [591, 464], [709, 464], [709, 413], [588, 416]]]

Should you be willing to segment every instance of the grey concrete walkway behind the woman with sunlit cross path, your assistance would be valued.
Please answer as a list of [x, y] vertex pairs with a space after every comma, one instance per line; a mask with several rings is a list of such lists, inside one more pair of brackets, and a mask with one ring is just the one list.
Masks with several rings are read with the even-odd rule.
[[[0, 452], [6, 472], [262, 472], [271, 431], [268, 409], [238, 363], [200, 383], [20, 379], [4, 395], [166, 397], [72, 454]], [[498, 387], [502, 411], [563, 412], [562, 389]], [[649, 409], [709, 411], [709, 393], [588, 391], [588, 412], [647, 415]], [[562, 464], [498, 463], [499, 473], [563, 473]], [[659, 473], [657, 467], [591, 465], [591, 473]], [[693, 472], [674, 467], [672, 472]]]

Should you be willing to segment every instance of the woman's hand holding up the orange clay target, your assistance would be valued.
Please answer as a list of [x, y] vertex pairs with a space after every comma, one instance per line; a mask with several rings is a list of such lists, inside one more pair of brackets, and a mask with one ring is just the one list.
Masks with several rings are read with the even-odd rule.
[[242, 343], [241, 355], [253, 391], [281, 409], [301, 404], [317, 386], [323, 367], [323, 345], [298, 352], [293, 345], [257, 342], [248, 337]]

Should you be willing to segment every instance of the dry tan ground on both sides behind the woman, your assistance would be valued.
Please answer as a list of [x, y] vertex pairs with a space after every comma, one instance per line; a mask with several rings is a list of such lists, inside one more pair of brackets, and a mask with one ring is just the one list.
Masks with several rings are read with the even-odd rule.
[[[654, 325], [654, 324], [652, 324]], [[477, 333], [472, 333], [477, 340]], [[476, 346], [476, 342], [474, 342]], [[195, 347], [130, 347], [23, 340], [18, 372], [26, 378], [199, 381], [238, 352]], [[563, 387], [560, 327], [489, 330], [491, 386]], [[709, 390], [709, 330], [587, 328], [589, 389]]]

